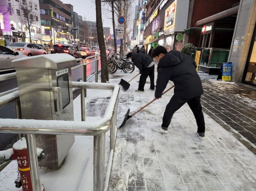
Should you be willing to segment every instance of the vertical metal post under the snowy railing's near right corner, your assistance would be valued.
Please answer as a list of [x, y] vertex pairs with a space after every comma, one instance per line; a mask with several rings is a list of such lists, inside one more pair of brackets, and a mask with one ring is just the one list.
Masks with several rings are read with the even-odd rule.
[[104, 189], [105, 133], [93, 136], [93, 190]]

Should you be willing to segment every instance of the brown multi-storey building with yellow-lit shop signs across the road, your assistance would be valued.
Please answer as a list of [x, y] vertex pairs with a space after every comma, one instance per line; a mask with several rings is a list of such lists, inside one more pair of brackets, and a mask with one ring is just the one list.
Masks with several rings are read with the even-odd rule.
[[52, 47], [56, 43], [73, 43], [73, 6], [59, 0], [39, 0], [43, 42]]

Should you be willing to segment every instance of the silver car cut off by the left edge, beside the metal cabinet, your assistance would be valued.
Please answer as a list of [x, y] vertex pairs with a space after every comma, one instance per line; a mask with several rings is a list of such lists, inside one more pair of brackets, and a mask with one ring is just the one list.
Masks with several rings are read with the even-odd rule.
[[0, 45], [0, 70], [10, 69], [11, 62], [15, 59], [27, 57], [26, 55], [13, 52], [11, 49]]

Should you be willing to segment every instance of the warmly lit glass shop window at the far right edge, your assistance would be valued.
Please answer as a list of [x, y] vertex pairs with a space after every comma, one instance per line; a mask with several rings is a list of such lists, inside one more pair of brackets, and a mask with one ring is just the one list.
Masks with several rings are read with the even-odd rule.
[[256, 27], [245, 65], [243, 82], [256, 86]]

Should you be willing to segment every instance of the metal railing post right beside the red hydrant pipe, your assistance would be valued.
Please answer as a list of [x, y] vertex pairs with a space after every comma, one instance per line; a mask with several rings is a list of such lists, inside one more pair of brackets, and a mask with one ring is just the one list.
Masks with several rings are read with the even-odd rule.
[[27, 142], [27, 150], [29, 154], [29, 164], [30, 164], [30, 173], [31, 173], [33, 191], [42, 191], [39, 170], [38, 170], [37, 155], [36, 155], [35, 135], [26, 134], [26, 142]]

